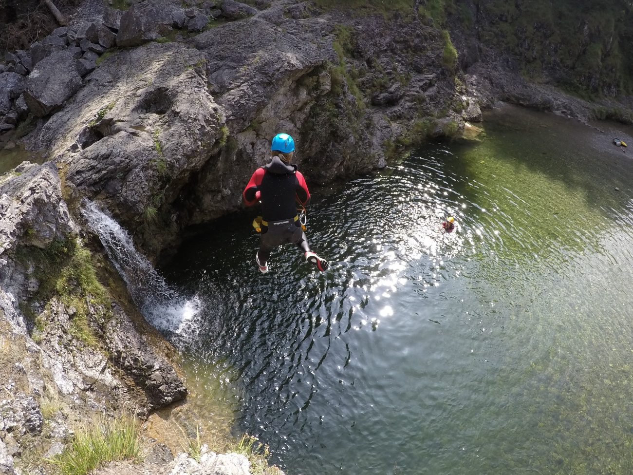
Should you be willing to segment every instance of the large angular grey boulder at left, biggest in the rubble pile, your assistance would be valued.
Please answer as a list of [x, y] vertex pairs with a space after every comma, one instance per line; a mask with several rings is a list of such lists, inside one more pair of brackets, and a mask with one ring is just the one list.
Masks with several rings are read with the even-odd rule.
[[61, 108], [81, 85], [72, 53], [59, 51], [37, 63], [27, 78], [24, 98], [32, 113], [44, 117]]

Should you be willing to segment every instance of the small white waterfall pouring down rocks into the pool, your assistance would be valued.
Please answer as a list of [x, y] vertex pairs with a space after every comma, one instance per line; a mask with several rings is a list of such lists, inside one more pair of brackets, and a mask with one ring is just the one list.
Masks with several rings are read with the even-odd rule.
[[116, 270], [127, 284], [132, 300], [147, 322], [175, 336], [180, 344], [191, 343], [199, 328], [201, 309], [197, 297], [186, 298], [171, 288], [149, 260], [134, 248], [130, 234], [96, 203], [84, 200], [82, 215], [96, 232]]

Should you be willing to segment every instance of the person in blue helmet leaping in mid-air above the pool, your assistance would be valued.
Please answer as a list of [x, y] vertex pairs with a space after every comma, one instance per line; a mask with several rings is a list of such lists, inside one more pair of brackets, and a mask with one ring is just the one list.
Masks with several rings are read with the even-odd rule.
[[261, 272], [268, 272], [270, 251], [280, 244], [292, 243], [303, 251], [306, 261], [323, 272], [329, 262], [310, 250], [306, 233], [301, 229], [296, 201], [306, 206], [310, 191], [303, 175], [292, 163], [294, 140], [277, 134], [270, 146], [270, 162], [258, 168], [244, 188], [246, 206], [261, 201], [260, 250], [255, 255]]

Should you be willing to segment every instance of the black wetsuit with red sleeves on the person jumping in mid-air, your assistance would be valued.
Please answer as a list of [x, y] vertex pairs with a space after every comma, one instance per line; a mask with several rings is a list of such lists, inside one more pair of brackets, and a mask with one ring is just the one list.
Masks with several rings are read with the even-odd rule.
[[296, 201], [307, 205], [310, 191], [296, 165], [273, 156], [268, 164], [255, 170], [242, 197], [248, 206], [261, 200], [261, 216], [267, 223], [262, 225], [260, 234], [258, 255], [262, 265], [280, 244], [294, 243], [304, 253], [310, 251], [308, 238], [296, 219]]

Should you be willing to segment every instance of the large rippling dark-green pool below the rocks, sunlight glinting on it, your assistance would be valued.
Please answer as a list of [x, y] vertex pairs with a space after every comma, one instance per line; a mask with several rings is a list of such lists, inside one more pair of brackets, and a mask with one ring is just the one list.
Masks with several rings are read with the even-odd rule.
[[633, 473], [633, 139], [599, 127], [507, 107], [318, 191], [325, 274], [261, 275], [254, 212], [201, 230], [163, 269], [196, 379], [289, 475]]

